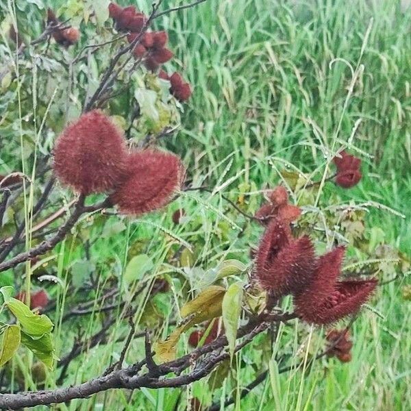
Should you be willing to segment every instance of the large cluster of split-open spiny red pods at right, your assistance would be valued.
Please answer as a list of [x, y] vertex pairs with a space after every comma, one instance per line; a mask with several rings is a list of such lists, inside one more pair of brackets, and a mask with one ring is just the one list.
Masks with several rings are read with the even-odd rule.
[[[271, 199], [285, 207], [285, 188], [277, 187]], [[275, 203], [273, 201], [273, 203]], [[375, 279], [338, 280], [344, 247], [320, 258], [308, 236], [294, 238], [290, 219], [282, 218], [277, 208], [262, 236], [255, 260], [255, 276], [275, 298], [291, 294], [295, 312], [308, 323], [334, 323], [360, 309], [375, 289]], [[297, 213], [295, 213], [297, 214]], [[293, 215], [293, 218], [295, 217]]]

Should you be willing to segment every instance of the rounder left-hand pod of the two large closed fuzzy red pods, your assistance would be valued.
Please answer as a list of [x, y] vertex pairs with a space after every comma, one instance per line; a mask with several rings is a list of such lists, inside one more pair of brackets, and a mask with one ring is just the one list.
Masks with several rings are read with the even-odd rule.
[[112, 190], [126, 170], [125, 138], [100, 110], [83, 114], [58, 137], [54, 171], [76, 192]]

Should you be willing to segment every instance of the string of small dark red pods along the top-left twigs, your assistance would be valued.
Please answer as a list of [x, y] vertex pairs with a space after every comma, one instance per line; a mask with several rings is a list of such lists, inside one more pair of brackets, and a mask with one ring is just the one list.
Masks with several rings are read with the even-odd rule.
[[[121, 8], [116, 3], [110, 3], [108, 10], [116, 23], [116, 29], [129, 32], [129, 43], [136, 42], [133, 55], [136, 59], [142, 60], [149, 71], [157, 71], [161, 64], [173, 58], [173, 52], [166, 47], [169, 36], [164, 31], [144, 32], [148, 18], [138, 12], [134, 5]], [[183, 102], [190, 97], [190, 84], [184, 82], [179, 73], [169, 76], [164, 70], [160, 70], [158, 77], [170, 82], [170, 92], [177, 100]]]

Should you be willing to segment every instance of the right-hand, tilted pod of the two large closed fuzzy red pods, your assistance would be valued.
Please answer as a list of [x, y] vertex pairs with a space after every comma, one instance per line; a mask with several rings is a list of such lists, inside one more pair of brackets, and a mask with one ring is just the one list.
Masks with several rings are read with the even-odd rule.
[[184, 181], [184, 167], [175, 154], [135, 151], [127, 160], [127, 177], [111, 196], [123, 214], [140, 215], [165, 206]]

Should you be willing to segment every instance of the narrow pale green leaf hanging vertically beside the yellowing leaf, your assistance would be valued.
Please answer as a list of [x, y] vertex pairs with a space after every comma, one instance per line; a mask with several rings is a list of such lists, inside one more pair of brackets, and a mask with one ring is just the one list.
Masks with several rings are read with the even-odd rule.
[[234, 355], [236, 347], [238, 320], [241, 314], [242, 286], [234, 283], [227, 289], [223, 298], [223, 323], [228, 340], [230, 356]]

